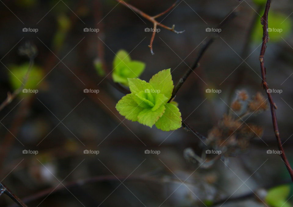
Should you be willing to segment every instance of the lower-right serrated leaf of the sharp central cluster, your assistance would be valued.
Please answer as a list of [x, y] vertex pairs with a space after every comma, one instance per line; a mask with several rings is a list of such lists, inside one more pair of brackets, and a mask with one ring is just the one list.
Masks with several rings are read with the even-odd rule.
[[181, 113], [179, 109], [170, 103], [167, 103], [166, 110], [163, 116], [157, 121], [156, 127], [163, 131], [179, 129], [182, 125]]

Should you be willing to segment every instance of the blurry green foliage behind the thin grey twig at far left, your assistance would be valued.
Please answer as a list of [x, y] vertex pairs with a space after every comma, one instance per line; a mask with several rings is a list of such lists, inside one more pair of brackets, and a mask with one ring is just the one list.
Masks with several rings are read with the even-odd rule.
[[[11, 71], [9, 72], [9, 80], [14, 90], [18, 89], [22, 85], [22, 83], [24, 83], [24, 77], [27, 73], [28, 68], [29, 63], [9, 66], [9, 70]], [[27, 83], [25, 84], [24, 88], [32, 90], [37, 89], [37, 84], [42, 80], [42, 78], [42, 69], [38, 66], [33, 66], [31, 68]]]

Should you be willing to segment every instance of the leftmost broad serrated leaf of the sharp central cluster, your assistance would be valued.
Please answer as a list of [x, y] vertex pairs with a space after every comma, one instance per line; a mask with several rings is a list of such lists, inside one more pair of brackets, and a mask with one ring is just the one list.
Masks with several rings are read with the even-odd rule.
[[134, 100], [133, 94], [123, 96], [116, 104], [117, 111], [130, 121], [137, 121], [137, 116], [143, 110]]

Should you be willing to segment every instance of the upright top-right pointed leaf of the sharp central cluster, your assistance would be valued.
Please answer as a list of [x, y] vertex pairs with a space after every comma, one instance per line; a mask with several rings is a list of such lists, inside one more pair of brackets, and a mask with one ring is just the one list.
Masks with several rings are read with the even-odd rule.
[[168, 99], [170, 99], [174, 88], [171, 69], [162, 70], [155, 74], [150, 79], [150, 84], [154, 87], [154, 89], [159, 90], [160, 94], [164, 94]]

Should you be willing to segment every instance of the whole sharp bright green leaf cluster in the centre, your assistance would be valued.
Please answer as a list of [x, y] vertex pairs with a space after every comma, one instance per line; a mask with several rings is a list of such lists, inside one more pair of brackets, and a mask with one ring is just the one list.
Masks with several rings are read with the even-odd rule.
[[174, 88], [170, 69], [155, 74], [147, 83], [138, 78], [128, 78], [131, 93], [117, 103], [116, 109], [131, 121], [163, 131], [181, 127], [181, 113], [177, 106], [168, 103]]

